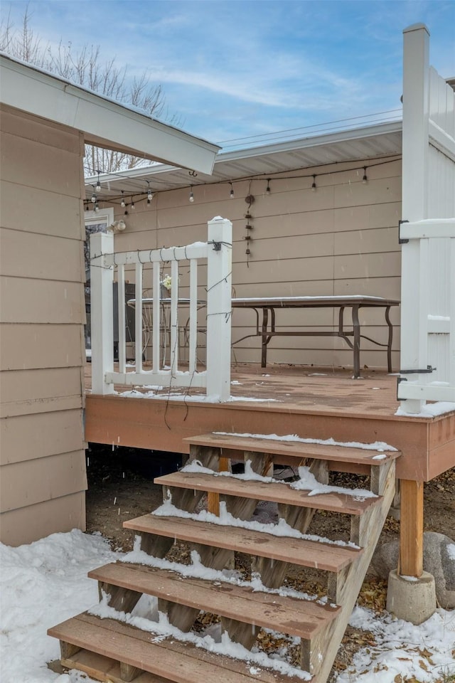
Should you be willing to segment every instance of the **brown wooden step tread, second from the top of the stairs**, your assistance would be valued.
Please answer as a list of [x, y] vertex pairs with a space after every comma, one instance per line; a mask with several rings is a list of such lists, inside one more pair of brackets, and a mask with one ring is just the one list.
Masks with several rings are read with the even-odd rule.
[[[361, 498], [338, 492], [312, 496], [309, 490], [293, 489], [285, 483], [242, 480], [227, 475], [208, 475], [204, 472], [172, 472], [163, 477], [156, 477], [154, 483], [346, 514], [362, 514], [379, 500], [378, 497]], [[370, 494], [369, 491], [366, 493]]]

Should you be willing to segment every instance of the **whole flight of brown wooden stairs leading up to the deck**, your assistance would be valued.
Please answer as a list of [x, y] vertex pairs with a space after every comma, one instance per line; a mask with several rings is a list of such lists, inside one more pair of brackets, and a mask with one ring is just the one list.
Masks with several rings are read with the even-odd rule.
[[[203, 610], [218, 615], [221, 629], [247, 650], [255, 644], [260, 628], [300, 637], [301, 669], [309, 672], [312, 683], [325, 683], [392, 503], [395, 460], [400, 453], [215, 433], [188, 441], [191, 460], [213, 474], [193, 468], [159, 477], [155, 482], [163, 485], [164, 499], [171, 497], [170, 514], [147, 514], [124, 526], [137, 531], [141, 550], [154, 558], [165, 558], [177, 540], [189, 544], [200, 562], [215, 570], [232, 566], [235, 552], [247, 554], [264, 590], [252, 590], [245, 581], [237, 585], [222, 577], [213, 581], [125, 562], [100, 567], [89, 576], [98, 581], [100, 593], [109, 596], [109, 606], [120, 612], [129, 613], [141, 595], [156, 597], [160, 612], [183, 632], [191, 630]], [[250, 461], [259, 477], [221, 475], [231, 458]], [[290, 462], [309, 467], [321, 484], [328, 482], [329, 470], [344, 470], [346, 465], [361, 472], [368, 468], [374, 496], [333, 490], [311, 495], [270, 479], [274, 465]], [[196, 514], [205, 495], [208, 512], [213, 513], [210, 521]], [[292, 527], [288, 536], [271, 533], [277, 531], [276, 526], [269, 532], [248, 525], [258, 501], [277, 504], [279, 518]], [[225, 510], [232, 517], [225, 517]], [[349, 514], [350, 544], [306, 537], [316, 510]], [[286, 533], [282, 528], [279, 531]], [[325, 602], [279, 594], [277, 589], [291, 566], [326, 573]], [[153, 625], [149, 632], [84, 613], [50, 629], [49, 634], [60, 640], [63, 665], [102, 681], [200, 683], [209, 676], [220, 683], [302, 680], [304, 672], [286, 675], [215, 655], [175, 637], [163, 638], [153, 632]]]

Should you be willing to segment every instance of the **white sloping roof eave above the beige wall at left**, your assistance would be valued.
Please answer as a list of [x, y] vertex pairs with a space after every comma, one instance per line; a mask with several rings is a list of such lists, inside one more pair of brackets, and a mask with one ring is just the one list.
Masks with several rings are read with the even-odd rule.
[[3, 104], [80, 130], [87, 144], [205, 174], [213, 169], [216, 144], [3, 53], [0, 68]]

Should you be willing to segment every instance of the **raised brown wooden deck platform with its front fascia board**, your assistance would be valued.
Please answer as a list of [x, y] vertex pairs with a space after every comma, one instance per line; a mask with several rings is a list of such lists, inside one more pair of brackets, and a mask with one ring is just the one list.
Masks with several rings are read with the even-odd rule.
[[115, 386], [91, 393], [85, 373], [85, 438], [168, 452], [188, 452], [184, 438], [211, 431], [296, 434], [338, 442], [382, 441], [402, 452], [397, 476], [428, 481], [455, 466], [455, 404], [428, 404], [422, 415], [400, 415], [397, 377], [363, 369], [238, 364], [231, 369], [231, 400], [210, 403], [203, 389]]

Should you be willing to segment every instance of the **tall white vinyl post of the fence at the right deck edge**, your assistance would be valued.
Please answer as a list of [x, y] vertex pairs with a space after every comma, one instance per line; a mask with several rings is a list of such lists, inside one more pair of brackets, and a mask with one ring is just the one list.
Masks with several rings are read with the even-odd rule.
[[[427, 218], [429, 33], [423, 24], [403, 33], [402, 218], [413, 222]], [[402, 245], [400, 368], [405, 370], [418, 369], [426, 360], [419, 334], [421, 311], [416, 305], [426, 295], [420, 290], [424, 282], [420, 269], [426, 266], [419, 240]], [[415, 399], [402, 403], [407, 413], [419, 413], [423, 405]]]

